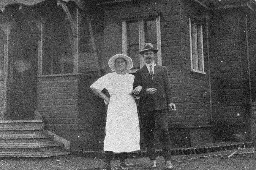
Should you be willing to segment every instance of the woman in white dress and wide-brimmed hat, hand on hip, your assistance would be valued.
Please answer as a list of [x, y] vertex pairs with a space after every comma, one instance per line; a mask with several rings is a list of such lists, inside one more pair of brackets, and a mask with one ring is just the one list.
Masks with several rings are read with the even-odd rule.
[[[104, 140], [105, 165], [110, 170], [113, 152], [120, 154], [120, 168], [126, 169], [127, 152], [140, 150], [140, 129], [137, 106], [132, 95], [134, 76], [127, 73], [133, 67], [132, 59], [116, 54], [108, 61], [114, 72], [100, 77], [90, 87], [108, 104], [106, 136]], [[110, 98], [102, 93], [106, 88]]]

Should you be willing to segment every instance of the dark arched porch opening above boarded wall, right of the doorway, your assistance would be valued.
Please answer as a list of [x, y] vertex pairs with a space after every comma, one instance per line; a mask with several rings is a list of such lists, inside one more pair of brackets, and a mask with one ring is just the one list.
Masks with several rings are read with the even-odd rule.
[[70, 24], [64, 18], [51, 18], [45, 24], [43, 30], [43, 75], [73, 72], [71, 49], [73, 37], [69, 27]]

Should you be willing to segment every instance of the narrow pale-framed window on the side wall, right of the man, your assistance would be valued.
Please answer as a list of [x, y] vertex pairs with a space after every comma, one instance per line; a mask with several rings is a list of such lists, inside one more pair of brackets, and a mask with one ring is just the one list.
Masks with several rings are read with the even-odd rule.
[[190, 20], [190, 17], [189, 35], [191, 71], [206, 74], [204, 72], [203, 59], [203, 25], [197, 21]]

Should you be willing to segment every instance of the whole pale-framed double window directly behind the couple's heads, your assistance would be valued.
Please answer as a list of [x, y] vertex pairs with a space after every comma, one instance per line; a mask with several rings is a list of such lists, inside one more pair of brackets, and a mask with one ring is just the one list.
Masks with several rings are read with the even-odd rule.
[[139, 54], [144, 43], [152, 43], [159, 50], [155, 62], [162, 65], [159, 16], [151, 19], [123, 20], [122, 39], [123, 54], [131, 57], [133, 61], [131, 72], [135, 72], [145, 64], [143, 57]]

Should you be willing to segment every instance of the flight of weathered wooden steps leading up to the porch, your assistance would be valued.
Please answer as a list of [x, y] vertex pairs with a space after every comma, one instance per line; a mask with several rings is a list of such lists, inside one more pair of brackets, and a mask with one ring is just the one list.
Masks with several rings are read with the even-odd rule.
[[70, 154], [69, 141], [45, 130], [38, 120], [0, 121], [0, 157], [49, 157]]

